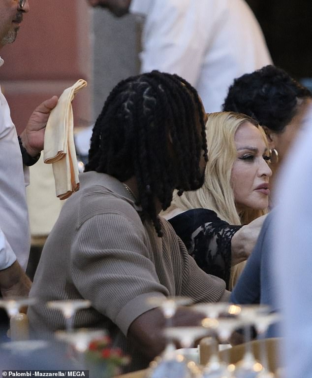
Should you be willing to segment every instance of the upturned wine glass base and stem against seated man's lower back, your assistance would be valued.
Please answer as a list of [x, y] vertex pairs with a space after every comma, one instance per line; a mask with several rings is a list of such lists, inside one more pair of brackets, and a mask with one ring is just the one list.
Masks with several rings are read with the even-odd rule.
[[47, 306], [50, 309], [58, 309], [62, 311], [65, 317], [66, 332], [72, 332], [74, 329], [74, 315], [76, 311], [89, 308], [91, 306], [91, 301], [85, 299], [50, 301], [47, 303]]

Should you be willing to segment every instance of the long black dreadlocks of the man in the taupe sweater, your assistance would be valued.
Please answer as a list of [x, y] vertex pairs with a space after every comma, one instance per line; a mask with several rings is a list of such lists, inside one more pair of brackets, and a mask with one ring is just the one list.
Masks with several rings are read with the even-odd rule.
[[197, 91], [178, 75], [154, 70], [121, 81], [109, 94], [94, 125], [85, 172], [107, 173], [122, 182], [135, 176], [142, 221], [149, 217], [161, 237], [155, 199], [164, 210], [174, 189], [198, 189], [203, 154], [207, 161]]

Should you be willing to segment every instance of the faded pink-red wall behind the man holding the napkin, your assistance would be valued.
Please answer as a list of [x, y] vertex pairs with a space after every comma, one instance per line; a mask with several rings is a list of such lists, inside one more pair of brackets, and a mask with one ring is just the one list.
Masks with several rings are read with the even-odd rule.
[[18, 37], [1, 50], [0, 83], [21, 132], [32, 110], [78, 79], [88, 86], [73, 102], [75, 126], [87, 125], [91, 109], [90, 9], [85, 0], [29, 0]]

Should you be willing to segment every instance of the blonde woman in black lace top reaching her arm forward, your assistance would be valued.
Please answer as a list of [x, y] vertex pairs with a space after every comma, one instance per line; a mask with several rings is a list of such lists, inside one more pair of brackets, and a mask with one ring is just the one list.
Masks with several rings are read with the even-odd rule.
[[164, 216], [197, 264], [231, 290], [267, 212], [270, 151], [262, 128], [244, 114], [209, 114], [206, 136], [204, 185], [175, 193]]

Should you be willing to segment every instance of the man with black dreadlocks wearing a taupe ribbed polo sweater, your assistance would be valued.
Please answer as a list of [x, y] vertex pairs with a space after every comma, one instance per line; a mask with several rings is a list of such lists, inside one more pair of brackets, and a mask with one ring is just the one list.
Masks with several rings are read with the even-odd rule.
[[[164, 346], [161, 311], [148, 298], [227, 300], [225, 282], [197, 267], [171, 225], [158, 217], [173, 190], [203, 184], [205, 113], [193, 87], [152, 71], [121, 81], [94, 126], [80, 190], [64, 204], [43, 248], [29, 309], [38, 332], [64, 328], [48, 300], [89, 299], [75, 327], [103, 327], [143, 369]], [[181, 310], [175, 324], [197, 324]]]

